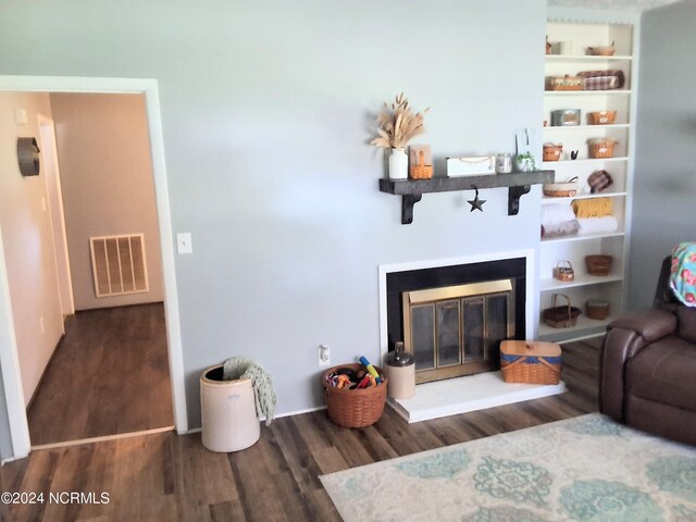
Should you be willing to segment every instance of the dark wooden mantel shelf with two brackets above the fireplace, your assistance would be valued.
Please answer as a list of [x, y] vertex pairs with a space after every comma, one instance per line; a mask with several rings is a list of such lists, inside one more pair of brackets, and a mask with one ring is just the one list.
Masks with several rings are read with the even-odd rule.
[[401, 196], [401, 224], [413, 222], [413, 206], [424, 194], [508, 187], [508, 215], [520, 211], [520, 198], [532, 185], [554, 183], [556, 171], [514, 172], [483, 176], [433, 177], [431, 179], [380, 179], [380, 190]]

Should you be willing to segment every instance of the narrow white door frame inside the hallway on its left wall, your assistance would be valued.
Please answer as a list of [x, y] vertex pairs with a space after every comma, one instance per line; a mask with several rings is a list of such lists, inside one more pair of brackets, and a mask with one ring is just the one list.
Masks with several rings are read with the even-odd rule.
[[[39, 114], [39, 142], [46, 173], [49, 215], [53, 233], [53, 253], [55, 272], [58, 273], [58, 296], [63, 316], [75, 313], [73, 299], [73, 276], [70, 271], [70, 253], [67, 252], [67, 233], [65, 232], [65, 213], [63, 212], [63, 190], [61, 188], [58, 147], [55, 146], [55, 125], [53, 120]], [[65, 333], [65, 328], [63, 328]]]

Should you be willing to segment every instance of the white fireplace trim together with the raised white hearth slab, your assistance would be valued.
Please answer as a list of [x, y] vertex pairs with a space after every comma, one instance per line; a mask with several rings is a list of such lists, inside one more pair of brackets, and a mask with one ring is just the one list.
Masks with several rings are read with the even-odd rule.
[[[380, 265], [380, 361], [384, 363], [389, 350], [387, 335], [387, 274], [520, 258], [525, 259], [525, 332], [527, 338], [535, 338], [537, 331], [534, 318], [538, 313], [536, 306], [538, 288], [534, 250], [490, 252], [463, 258]], [[487, 372], [473, 376], [420, 384], [417, 386], [414, 398], [406, 400], [389, 399], [389, 405], [408, 422], [419, 422], [546, 397], [560, 394], [564, 389], [566, 385], [562, 382], [551, 386], [507, 384], [502, 381], [500, 372]]]

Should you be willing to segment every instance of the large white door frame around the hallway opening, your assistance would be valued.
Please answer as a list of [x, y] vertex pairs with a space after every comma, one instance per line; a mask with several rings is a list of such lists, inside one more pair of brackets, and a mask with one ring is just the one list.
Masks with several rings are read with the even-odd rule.
[[[186, 414], [184, 353], [182, 349], [182, 332], [174, 268], [175, 250], [157, 79], [0, 76], [0, 91], [141, 94], [145, 96], [148, 129], [150, 133], [154, 196], [162, 248], [164, 314], [170, 356], [170, 374], [172, 378], [174, 426], [178, 434], [187, 433], [188, 419]], [[10, 290], [1, 233], [0, 228], [0, 366], [2, 368], [2, 378], [4, 382], [13, 456], [15, 459], [18, 459], [29, 453], [30, 440], [24, 395], [22, 391], [22, 376], [20, 373], [14, 323], [12, 322], [12, 309], [9, 308], [11, 302]], [[9, 308], [9, 310], [4, 310], [5, 308]]]

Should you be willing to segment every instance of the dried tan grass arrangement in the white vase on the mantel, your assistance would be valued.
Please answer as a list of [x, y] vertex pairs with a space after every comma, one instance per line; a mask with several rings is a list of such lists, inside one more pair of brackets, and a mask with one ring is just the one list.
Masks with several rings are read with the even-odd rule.
[[[430, 108], [428, 108], [430, 109]], [[391, 105], [384, 103], [384, 108], [377, 117], [377, 134], [370, 144], [376, 147], [402, 149], [413, 136], [423, 134], [423, 114], [413, 113], [409, 107], [409, 100], [401, 92], [396, 97], [396, 101]]]

